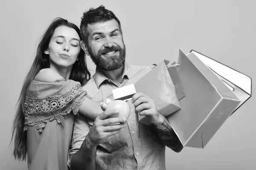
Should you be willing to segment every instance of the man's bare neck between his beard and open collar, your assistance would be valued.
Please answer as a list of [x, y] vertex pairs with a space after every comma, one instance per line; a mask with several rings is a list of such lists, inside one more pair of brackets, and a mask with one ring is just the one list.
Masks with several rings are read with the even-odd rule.
[[101, 70], [102, 73], [108, 78], [111, 79], [114, 83], [116, 83], [117, 85], [119, 84], [119, 82], [121, 82], [122, 79], [122, 74], [124, 71], [124, 65], [122, 65], [122, 67], [116, 69], [116, 70], [112, 70], [112, 71], [105, 71], [105, 70]]

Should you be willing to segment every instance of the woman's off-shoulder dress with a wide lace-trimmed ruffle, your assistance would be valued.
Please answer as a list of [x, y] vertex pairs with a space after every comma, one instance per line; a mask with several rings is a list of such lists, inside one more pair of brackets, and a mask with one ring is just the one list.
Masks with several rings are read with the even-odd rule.
[[68, 170], [74, 114], [86, 95], [73, 80], [32, 81], [23, 108], [29, 170]]

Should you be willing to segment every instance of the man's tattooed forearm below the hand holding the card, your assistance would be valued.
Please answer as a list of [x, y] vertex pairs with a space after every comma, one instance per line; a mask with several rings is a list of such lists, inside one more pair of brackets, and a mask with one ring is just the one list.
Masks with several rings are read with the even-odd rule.
[[174, 150], [175, 152], [180, 152], [183, 149], [183, 145], [181, 144], [178, 136], [172, 129], [169, 121], [163, 116], [160, 115], [163, 119], [162, 124], [154, 124], [157, 133], [161, 139], [161, 141], [169, 148]]

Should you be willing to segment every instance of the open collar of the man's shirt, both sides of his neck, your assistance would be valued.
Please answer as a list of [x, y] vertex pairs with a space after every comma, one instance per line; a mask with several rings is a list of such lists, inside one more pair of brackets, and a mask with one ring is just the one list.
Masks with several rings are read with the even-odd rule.
[[[130, 66], [127, 64], [127, 62], [125, 62], [125, 64], [124, 64], [124, 70], [123, 70], [123, 74], [122, 74], [122, 81], [123, 81], [123, 78], [125, 76], [127, 76], [128, 79], [130, 79], [132, 77], [131, 69], [130, 69]], [[105, 80], [109, 80], [108, 77], [106, 77], [99, 70], [98, 67], [96, 67], [96, 71], [95, 71], [95, 74], [93, 75], [93, 79], [95, 80], [96, 85], [97, 85], [98, 88], [102, 84], [102, 82], [104, 82]]]

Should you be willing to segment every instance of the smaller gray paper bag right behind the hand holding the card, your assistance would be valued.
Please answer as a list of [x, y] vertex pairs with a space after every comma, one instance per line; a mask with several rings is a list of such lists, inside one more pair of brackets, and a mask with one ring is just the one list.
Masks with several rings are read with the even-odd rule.
[[[168, 116], [180, 109], [175, 86], [166, 67], [168, 63], [169, 61], [166, 60], [161, 62], [148, 72], [148, 74], [134, 83], [137, 92], [143, 92], [151, 97], [151, 99], [154, 99], [157, 110], [164, 116]], [[145, 116], [139, 115], [139, 121], [146, 125], [151, 124]]]

